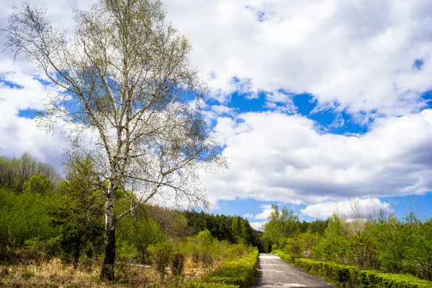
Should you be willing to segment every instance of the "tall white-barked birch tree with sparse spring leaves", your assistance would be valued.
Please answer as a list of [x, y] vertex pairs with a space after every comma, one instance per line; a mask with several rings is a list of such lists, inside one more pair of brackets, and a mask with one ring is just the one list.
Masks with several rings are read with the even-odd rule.
[[[205, 204], [198, 170], [225, 166], [201, 116], [207, 88], [187, 60], [191, 45], [157, 0], [100, 0], [76, 12], [72, 31], [24, 3], [2, 32], [5, 48], [60, 91], [47, 96], [38, 123], [90, 154], [106, 184], [100, 277], [113, 280], [117, 221], [155, 198]], [[117, 189], [135, 196], [115, 215]]]

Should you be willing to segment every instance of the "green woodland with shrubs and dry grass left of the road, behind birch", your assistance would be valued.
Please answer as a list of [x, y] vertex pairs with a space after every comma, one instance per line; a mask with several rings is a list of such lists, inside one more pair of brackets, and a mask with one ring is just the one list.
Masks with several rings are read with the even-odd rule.
[[[97, 275], [104, 201], [98, 189], [88, 189], [91, 166], [82, 163], [69, 165], [63, 177], [30, 154], [0, 157], [1, 283], [101, 285]], [[129, 197], [133, 195], [128, 191], [117, 191], [119, 209], [130, 205]], [[258, 233], [242, 217], [156, 205], [142, 206], [119, 221], [115, 241], [117, 276], [106, 285], [126, 287], [205, 287], [205, 277], [227, 274], [218, 269], [244, 259], [260, 245]]]

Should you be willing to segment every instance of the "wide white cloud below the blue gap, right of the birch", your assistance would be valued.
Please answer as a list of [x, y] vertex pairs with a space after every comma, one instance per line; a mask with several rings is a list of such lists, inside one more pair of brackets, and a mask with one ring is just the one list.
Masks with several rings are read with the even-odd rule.
[[306, 117], [276, 112], [220, 118], [215, 131], [230, 167], [203, 176], [212, 202], [315, 204], [432, 189], [432, 110], [378, 119], [361, 136], [324, 133]]

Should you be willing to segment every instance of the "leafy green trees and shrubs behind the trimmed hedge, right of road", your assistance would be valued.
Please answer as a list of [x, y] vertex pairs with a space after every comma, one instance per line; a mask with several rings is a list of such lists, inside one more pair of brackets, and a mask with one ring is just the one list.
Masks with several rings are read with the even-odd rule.
[[298, 216], [273, 206], [264, 237], [273, 250], [294, 257], [432, 280], [432, 219], [421, 220], [415, 213], [402, 219], [378, 213], [350, 221], [333, 215], [322, 223], [326, 226], [322, 233], [296, 230]]

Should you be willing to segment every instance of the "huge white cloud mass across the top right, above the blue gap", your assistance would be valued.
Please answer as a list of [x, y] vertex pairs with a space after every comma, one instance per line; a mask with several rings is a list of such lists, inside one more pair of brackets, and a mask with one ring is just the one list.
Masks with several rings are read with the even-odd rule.
[[[192, 62], [213, 75], [214, 97], [284, 88], [359, 121], [423, 108], [431, 89], [432, 40], [426, 0], [166, 1], [194, 44]], [[200, 25], [196, 25], [200, 23]], [[421, 69], [413, 67], [422, 59]], [[271, 101], [269, 102], [271, 103]], [[359, 112], [365, 113], [359, 113]]]

